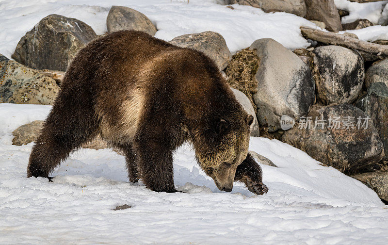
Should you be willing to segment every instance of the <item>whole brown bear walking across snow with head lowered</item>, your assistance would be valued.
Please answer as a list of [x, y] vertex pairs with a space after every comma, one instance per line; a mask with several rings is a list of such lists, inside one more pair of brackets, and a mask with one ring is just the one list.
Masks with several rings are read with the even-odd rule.
[[190, 141], [201, 168], [222, 191], [242, 181], [268, 188], [248, 154], [253, 117], [215, 63], [138, 31], [100, 37], [73, 59], [30, 155], [28, 177], [46, 177], [100, 134], [125, 155], [129, 180], [176, 192], [173, 152]]

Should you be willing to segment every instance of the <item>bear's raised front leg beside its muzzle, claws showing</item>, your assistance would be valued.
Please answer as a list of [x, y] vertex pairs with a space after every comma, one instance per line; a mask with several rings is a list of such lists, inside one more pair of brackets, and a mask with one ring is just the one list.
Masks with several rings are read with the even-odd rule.
[[268, 192], [268, 187], [262, 182], [261, 168], [249, 153], [237, 167], [234, 181], [243, 182], [248, 190], [256, 195]]

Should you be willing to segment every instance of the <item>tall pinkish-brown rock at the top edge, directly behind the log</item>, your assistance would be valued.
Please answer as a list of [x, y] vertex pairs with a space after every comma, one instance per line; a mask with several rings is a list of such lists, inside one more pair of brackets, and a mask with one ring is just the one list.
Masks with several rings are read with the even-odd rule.
[[342, 30], [341, 19], [334, 0], [306, 0], [306, 18], [325, 23], [328, 31]]

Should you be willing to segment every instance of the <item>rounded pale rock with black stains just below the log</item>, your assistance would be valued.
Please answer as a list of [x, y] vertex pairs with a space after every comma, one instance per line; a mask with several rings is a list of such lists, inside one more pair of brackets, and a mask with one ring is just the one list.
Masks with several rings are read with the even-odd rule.
[[319, 98], [325, 104], [353, 102], [364, 81], [362, 57], [340, 46], [322, 46], [311, 53]]

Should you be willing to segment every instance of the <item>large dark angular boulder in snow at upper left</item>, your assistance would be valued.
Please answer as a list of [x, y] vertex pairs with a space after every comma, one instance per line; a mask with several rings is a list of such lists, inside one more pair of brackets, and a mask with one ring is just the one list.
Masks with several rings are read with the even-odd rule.
[[49, 15], [20, 39], [12, 58], [34, 69], [65, 71], [77, 51], [96, 37], [78, 19]]

